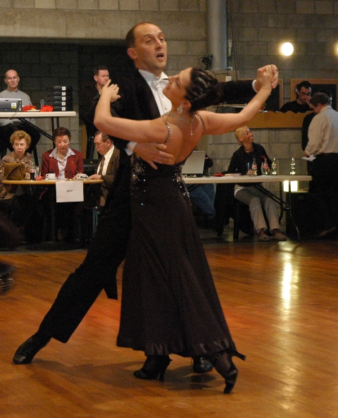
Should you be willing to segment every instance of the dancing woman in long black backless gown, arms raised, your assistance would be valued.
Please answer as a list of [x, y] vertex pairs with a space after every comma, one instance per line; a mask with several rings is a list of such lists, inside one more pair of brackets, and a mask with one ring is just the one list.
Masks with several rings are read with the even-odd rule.
[[217, 102], [217, 80], [199, 68], [169, 78], [163, 93], [170, 113], [154, 121], [113, 118], [118, 86], [109, 82], [96, 106], [100, 130], [137, 142], [165, 142], [173, 166], [149, 166], [132, 156], [132, 235], [125, 258], [118, 346], [142, 350], [139, 379], [163, 380], [169, 355], [205, 356], [225, 378], [225, 393], [237, 379], [237, 352], [199, 238], [181, 169], [202, 135], [245, 125], [271, 92], [274, 66], [263, 69], [261, 90], [241, 113], [199, 111]]

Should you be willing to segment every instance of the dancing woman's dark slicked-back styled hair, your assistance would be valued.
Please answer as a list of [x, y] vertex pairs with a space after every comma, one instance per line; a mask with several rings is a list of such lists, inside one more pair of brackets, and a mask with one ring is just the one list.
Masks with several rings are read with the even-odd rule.
[[191, 81], [184, 96], [192, 104], [190, 113], [219, 103], [217, 84], [218, 81], [203, 68], [192, 68]]

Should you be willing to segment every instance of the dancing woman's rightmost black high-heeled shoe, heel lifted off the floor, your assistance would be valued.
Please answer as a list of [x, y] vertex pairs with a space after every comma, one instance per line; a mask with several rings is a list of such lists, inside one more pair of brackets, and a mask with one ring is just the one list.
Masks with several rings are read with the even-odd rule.
[[209, 361], [213, 364], [213, 367], [218, 371], [220, 376], [225, 379], [224, 393], [231, 393], [236, 383], [238, 370], [232, 362], [232, 357], [239, 357], [239, 359], [245, 360], [246, 356], [237, 351], [220, 351], [217, 354], [210, 356]]

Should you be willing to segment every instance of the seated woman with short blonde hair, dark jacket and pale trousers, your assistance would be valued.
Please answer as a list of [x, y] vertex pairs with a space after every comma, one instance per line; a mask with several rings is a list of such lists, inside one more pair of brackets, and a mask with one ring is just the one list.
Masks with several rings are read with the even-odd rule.
[[[268, 161], [269, 169], [271, 168], [271, 160], [268, 157], [262, 145], [253, 142], [253, 134], [251, 130], [244, 126], [235, 131], [235, 135], [241, 147], [237, 149], [230, 161], [228, 173], [246, 174], [247, 164], [252, 164], [253, 158], [257, 163], [257, 174], [262, 174], [261, 165], [263, 157]], [[258, 184], [258, 182], [257, 182]], [[278, 205], [273, 199], [270, 199], [261, 190], [258, 190], [253, 183], [241, 183], [234, 186], [234, 196], [240, 202], [249, 206], [253, 226], [260, 241], [270, 241], [271, 238], [266, 233], [268, 226], [264, 219], [263, 209], [268, 218], [272, 239], [277, 241], [285, 241], [287, 237], [280, 232], [280, 223], [278, 219]]]

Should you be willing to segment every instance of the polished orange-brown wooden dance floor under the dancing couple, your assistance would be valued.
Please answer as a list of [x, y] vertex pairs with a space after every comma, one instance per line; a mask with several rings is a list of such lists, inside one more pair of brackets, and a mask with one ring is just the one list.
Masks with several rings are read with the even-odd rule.
[[2, 252], [18, 271], [15, 288], [0, 297], [0, 417], [337, 417], [338, 242], [205, 244], [247, 356], [236, 362], [232, 394], [223, 394], [215, 371], [193, 374], [190, 360], [176, 355], [164, 383], [135, 379], [143, 353], [116, 347], [120, 301], [104, 293], [67, 344], [51, 340], [32, 364], [13, 364], [85, 252]]

